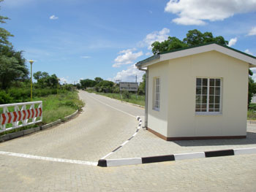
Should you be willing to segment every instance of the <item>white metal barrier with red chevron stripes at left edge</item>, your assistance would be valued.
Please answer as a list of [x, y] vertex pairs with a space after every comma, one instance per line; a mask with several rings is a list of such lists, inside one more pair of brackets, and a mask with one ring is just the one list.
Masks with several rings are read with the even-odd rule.
[[[35, 107], [36, 104], [38, 104], [38, 107]], [[12, 107], [12, 109], [10, 109], [10, 107]], [[0, 110], [0, 133], [42, 122], [42, 101], [0, 104]], [[12, 110], [12, 112], [10, 112], [10, 110]], [[12, 123], [12, 126], [7, 127], [10, 123]]]

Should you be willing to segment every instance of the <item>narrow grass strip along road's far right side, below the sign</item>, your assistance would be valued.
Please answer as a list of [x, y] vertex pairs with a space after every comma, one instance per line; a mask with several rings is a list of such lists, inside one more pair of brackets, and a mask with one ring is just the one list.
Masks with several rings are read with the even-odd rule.
[[[141, 106], [145, 106], [145, 96], [139, 96], [138, 95], [138, 99], [137, 99], [135, 93], [131, 93], [129, 99], [121, 99], [120, 93], [101, 93], [101, 92], [96, 92], [96, 91], [88, 91], [88, 92], [89, 93], [96, 93], [96, 94], [99, 94], [99, 95], [102, 95], [102, 96], [108, 96], [112, 99], [118, 99], [118, 100], [126, 101], [126, 102], [129, 102], [129, 103], [132, 103], [132, 104], [138, 104], [138, 105], [141, 105]], [[124, 96], [123, 96], [123, 98], [124, 98]]]

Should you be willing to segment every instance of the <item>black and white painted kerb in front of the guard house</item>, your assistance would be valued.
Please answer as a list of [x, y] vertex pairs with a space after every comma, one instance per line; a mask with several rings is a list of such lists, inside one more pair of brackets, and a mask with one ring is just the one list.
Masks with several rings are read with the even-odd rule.
[[118, 159], [99, 159], [98, 166], [125, 166], [125, 165], [136, 165], [136, 164], [150, 164], [158, 163], [163, 161], [178, 161], [184, 159], [193, 158], [211, 158], [228, 155], [246, 155], [256, 154], [256, 147], [253, 148], [241, 148], [233, 150], [212, 150], [206, 152], [197, 153], [181, 153], [173, 155], [159, 155], [144, 158], [118, 158]]

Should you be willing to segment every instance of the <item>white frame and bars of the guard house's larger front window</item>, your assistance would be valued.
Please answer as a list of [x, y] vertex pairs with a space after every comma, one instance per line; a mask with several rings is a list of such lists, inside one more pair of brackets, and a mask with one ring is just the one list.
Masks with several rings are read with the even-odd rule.
[[[196, 100], [195, 100], [195, 114], [196, 115], [222, 115], [222, 78], [221, 77], [196, 77], [196, 80], [197, 78], [199, 79], [207, 79], [207, 104], [206, 104], [206, 112], [197, 112], [196, 111]], [[220, 80], [220, 90], [219, 90], [219, 112], [210, 112], [209, 111], [209, 98], [210, 98], [210, 79], [219, 79]], [[197, 84], [197, 82], [196, 82]], [[197, 87], [197, 85], [195, 85]], [[214, 86], [215, 88], [215, 86]], [[195, 93], [195, 96], [197, 96], [197, 93]], [[216, 96], [214, 94], [214, 96]], [[214, 101], [214, 104], [215, 104], [215, 101]]]

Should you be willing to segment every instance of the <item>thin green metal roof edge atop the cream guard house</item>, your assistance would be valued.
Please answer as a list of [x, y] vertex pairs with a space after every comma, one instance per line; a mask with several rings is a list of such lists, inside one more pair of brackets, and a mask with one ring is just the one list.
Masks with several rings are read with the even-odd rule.
[[177, 52], [177, 51], [180, 51], [180, 50], [188, 50], [188, 49], [192, 49], [192, 48], [195, 48], [195, 47], [202, 47], [202, 46], [211, 45], [211, 44], [216, 44], [216, 45], [225, 47], [225, 48], [227, 48], [227, 49], [236, 51], [237, 53], [241, 53], [241, 54], [243, 54], [243, 55], [246, 55], [246, 56], [249, 56], [249, 57], [251, 57], [251, 58], [255, 58], [255, 59], [256, 59], [255, 56], [249, 55], [249, 54], [244, 53], [244, 52], [242, 52], [242, 51], [240, 51], [240, 50], [236, 50], [236, 49], [234, 49], [234, 48], [231, 48], [231, 47], [228, 47], [228, 46], [225, 46], [225, 45], [220, 45], [220, 44], [217, 43], [217, 42], [209, 42], [209, 43], [205, 43], [205, 44], [200, 44], [200, 45], [195, 45], [195, 46], [190, 46], [190, 47], [184, 47], [184, 48], [181, 48], [181, 49], [165, 51], [165, 52], [159, 53], [159, 54], [157, 54], [157, 55], [153, 55], [153, 56], [151, 56], [151, 57], [149, 57], [149, 58], [146, 58], [146, 59], [144, 59], [143, 61], [139, 61], [137, 64], [135, 64], [135, 66], [141, 66], [141, 65], [143, 65], [143, 64], [146, 64], [146, 63], [148, 63], [148, 61], [153, 61], [154, 59], [160, 58], [160, 55], [164, 55], [164, 54], [166, 54], [166, 53], [173, 53], [173, 52]]

